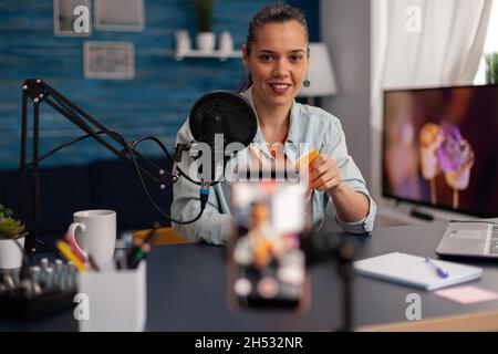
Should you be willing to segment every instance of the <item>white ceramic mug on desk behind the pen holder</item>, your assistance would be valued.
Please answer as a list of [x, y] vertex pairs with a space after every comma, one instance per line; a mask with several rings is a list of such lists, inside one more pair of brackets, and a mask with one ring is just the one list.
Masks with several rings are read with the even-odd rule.
[[68, 232], [74, 235], [84, 257], [92, 256], [98, 266], [112, 262], [116, 247], [116, 211], [84, 210], [73, 215]]

